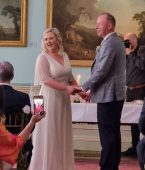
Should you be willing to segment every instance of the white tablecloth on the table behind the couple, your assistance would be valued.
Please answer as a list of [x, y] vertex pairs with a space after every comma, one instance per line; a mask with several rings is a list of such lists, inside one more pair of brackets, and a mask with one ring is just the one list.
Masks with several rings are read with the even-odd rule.
[[[97, 122], [97, 104], [72, 103], [73, 122]], [[138, 123], [142, 104], [125, 103], [122, 110], [121, 123]]]

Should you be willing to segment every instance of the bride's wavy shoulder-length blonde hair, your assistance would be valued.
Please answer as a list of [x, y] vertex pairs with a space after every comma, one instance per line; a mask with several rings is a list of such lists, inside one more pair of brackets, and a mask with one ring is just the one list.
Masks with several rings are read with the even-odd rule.
[[46, 33], [48, 32], [52, 32], [55, 36], [56, 36], [56, 39], [58, 40], [58, 48], [59, 48], [59, 55], [62, 55], [63, 51], [64, 51], [64, 48], [63, 48], [63, 44], [62, 44], [62, 37], [60, 35], [60, 32], [57, 28], [47, 28], [44, 33], [43, 33], [43, 39], [42, 39], [42, 53], [46, 52], [47, 51], [47, 48], [45, 46], [45, 43], [44, 43], [44, 36]]

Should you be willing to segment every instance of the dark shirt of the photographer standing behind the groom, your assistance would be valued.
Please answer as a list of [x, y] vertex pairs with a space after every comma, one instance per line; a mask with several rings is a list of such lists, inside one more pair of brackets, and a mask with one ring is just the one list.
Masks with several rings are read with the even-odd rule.
[[[141, 50], [140, 50], [141, 49]], [[138, 53], [132, 52], [126, 56], [126, 85], [140, 85], [145, 83], [145, 46], [139, 48]]]

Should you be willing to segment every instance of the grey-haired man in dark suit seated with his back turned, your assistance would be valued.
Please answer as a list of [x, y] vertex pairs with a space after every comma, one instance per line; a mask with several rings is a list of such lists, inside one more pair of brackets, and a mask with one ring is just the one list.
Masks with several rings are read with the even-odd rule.
[[[4, 103], [4, 114], [6, 116], [6, 124], [9, 124], [9, 115], [11, 120], [14, 121], [16, 114], [22, 112], [22, 108], [25, 105], [30, 106], [29, 95], [20, 91], [15, 90], [11, 86], [11, 80], [14, 77], [14, 68], [11, 63], [7, 61], [0, 62], [0, 86], [4, 91], [5, 103]], [[26, 117], [27, 122], [31, 119], [31, 114]], [[12, 122], [13, 123], [13, 122]], [[11, 133], [18, 134], [20, 129], [7, 128]], [[24, 152], [27, 153], [27, 163], [29, 165], [32, 156], [32, 141], [31, 138], [24, 145]]]

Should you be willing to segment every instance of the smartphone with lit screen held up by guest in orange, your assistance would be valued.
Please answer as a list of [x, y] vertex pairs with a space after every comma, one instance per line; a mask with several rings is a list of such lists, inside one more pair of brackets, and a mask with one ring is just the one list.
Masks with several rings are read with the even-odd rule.
[[44, 99], [42, 95], [34, 96], [33, 97], [34, 103], [34, 114], [40, 113], [41, 115], [44, 114]]

